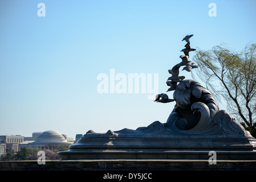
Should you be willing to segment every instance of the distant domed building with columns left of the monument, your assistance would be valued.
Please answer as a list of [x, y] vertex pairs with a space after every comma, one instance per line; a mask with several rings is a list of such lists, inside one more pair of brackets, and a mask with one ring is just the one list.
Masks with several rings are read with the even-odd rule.
[[39, 147], [41, 149], [50, 149], [59, 145], [70, 145], [74, 142], [67, 140], [66, 135], [60, 134], [58, 131], [47, 130], [40, 134], [34, 141], [25, 141], [19, 144], [20, 148]]

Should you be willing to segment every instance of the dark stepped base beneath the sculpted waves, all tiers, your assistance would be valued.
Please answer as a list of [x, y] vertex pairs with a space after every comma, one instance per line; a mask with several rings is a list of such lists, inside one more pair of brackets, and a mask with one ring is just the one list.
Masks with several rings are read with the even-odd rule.
[[216, 151], [217, 160], [256, 159], [255, 139], [112, 134], [86, 134], [68, 151], [58, 152], [60, 159], [209, 159], [209, 151]]

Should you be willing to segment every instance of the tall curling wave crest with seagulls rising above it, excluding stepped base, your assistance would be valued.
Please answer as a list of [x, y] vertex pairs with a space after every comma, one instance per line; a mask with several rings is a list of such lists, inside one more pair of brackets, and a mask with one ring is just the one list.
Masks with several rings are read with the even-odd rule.
[[[186, 35], [182, 39], [182, 41], [185, 40], [187, 42], [185, 45], [186, 49], [182, 49], [185, 56], [181, 55], [181, 63], [169, 69], [169, 73], [172, 76], [166, 81], [166, 84], [170, 86], [167, 92], [174, 90], [174, 99], [168, 100], [176, 101], [176, 105], [167, 122], [164, 124], [165, 128], [174, 134], [209, 135], [210, 133], [218, 133], [221, 135], [237, 135], [253, 138], [240, 123], [235, 121], [234, 117], [229, 115], [225, 110], [220, 110], [212, 94], [204, 86], [194, 80], [184, 80], [185, 76], [178, 76], [179, 69], [182, 66], [185, 66], [182, 71], [185, 70], [188, 72], [193, 68], [198, 68], [197, 65], [194, 65], [192, 61], [188, 60], [189, 52], [196, 50], [189, 46], [192, 36], [193, 34]], [[178, 82], [180, 83], [177, 85]], [[229, 121], [228, 124], [225, 122], [226, 119]]]

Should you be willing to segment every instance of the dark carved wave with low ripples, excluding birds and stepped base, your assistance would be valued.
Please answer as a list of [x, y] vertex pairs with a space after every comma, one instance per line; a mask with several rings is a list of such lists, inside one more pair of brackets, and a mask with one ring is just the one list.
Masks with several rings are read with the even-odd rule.
[[90, 130], [84, 137], [128, 137], [151, 136], [204, 136], [204, 137], [245, 137], [253, 138], [235, 118], [225, 110], [220, 110], [212, 94], [199, 82], [183, 80], [173, 93], [176, 105], [166, 123], [153, 122], [136, 130], [122, 129], [95, 133]]

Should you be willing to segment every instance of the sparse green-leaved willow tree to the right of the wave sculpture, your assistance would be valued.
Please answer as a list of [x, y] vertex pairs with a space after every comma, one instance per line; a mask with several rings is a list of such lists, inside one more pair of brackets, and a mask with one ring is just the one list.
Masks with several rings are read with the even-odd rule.
[[196, 71], [197, 76], [219, 101], [226, 101], [226, 110], [238, 121], [253, 127], [256, 119], [256, 44], [247, 44], [240, 52], [223, 45], [207, 51], [198, 49], [193, 61], [200, 68]]

